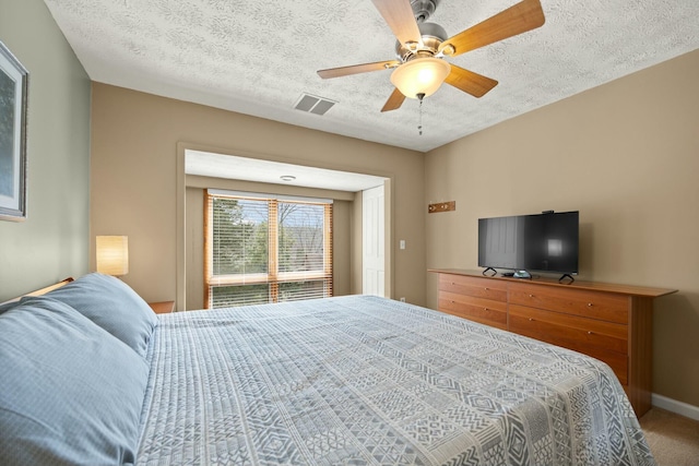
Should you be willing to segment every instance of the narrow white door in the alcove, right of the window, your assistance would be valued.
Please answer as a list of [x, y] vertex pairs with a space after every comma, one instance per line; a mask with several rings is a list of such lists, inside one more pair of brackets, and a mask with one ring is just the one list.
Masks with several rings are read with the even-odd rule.
[[362, 200], [362, 292], [386, 296], [383, 187], [363, 191]]

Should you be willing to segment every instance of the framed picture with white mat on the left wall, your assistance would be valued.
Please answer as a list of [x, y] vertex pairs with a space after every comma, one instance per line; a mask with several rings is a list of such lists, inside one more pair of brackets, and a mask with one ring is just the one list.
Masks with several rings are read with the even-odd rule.
[[26, 218], [28, 73], [0, 41], [0, 219]]

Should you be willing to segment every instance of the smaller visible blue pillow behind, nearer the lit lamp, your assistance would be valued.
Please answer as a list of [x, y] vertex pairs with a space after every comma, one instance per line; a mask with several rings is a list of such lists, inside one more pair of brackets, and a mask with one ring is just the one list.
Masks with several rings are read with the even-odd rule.
[[153, 309], [119, 278], [92, 273], [45, 296], [58, 299], [145, 356], [158, 323]]

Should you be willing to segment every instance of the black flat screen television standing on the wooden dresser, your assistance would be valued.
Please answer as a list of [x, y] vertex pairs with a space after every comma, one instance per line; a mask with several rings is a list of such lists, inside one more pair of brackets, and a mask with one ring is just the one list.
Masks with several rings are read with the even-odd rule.
[[578, 211], [479, 218], [478, 266], [577, 275], [578, 236]]

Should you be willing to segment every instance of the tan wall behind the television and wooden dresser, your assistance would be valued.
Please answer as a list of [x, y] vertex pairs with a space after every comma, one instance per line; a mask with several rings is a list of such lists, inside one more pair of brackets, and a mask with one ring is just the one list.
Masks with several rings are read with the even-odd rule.
[[[699, 50], [428, 154], [428, 267], [477, 268], [477, 218], [580, 211], [580, 277], [679, 289], [654, 309], [654, 393], [699, 406]], [[427, 278], [437, 306], [437, 282]]]

